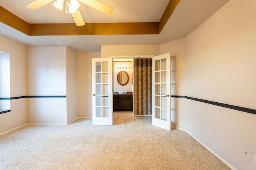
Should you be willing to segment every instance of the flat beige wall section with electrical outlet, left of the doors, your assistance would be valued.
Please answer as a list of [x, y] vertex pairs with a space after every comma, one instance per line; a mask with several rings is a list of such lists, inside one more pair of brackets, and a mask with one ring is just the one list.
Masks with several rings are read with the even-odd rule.
[[[27, 95], [66, 96], [66, 90], [66, 46], [28, 46]], [[66, 98], [27, 101], [28, 123], [67, 123]]]

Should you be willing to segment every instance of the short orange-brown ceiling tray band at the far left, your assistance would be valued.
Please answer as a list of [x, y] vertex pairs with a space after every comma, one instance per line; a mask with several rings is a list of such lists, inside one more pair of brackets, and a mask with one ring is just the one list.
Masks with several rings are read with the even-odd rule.
[[0, 22], [29, 35], [29, 23], [0, 6]]

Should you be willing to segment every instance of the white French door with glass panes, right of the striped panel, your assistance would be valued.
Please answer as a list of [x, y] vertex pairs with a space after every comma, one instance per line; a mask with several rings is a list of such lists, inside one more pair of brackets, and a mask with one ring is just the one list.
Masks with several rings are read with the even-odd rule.
[[171, 129], [170, 53], [152, 57], [152, 125]]

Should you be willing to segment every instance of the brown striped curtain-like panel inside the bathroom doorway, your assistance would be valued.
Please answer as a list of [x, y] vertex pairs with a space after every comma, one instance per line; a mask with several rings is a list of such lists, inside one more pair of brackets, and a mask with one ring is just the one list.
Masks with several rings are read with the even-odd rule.
[[152, 114], [151, 59], [134, 59], [134, 115]]

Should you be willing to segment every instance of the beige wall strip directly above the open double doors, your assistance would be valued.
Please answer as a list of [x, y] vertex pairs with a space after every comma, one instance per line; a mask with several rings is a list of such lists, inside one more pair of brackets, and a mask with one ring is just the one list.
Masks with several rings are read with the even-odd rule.
[[101, 57], [114, 55], [159, 55], [159, 45], [102, 45]]

